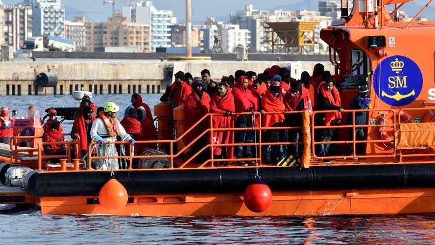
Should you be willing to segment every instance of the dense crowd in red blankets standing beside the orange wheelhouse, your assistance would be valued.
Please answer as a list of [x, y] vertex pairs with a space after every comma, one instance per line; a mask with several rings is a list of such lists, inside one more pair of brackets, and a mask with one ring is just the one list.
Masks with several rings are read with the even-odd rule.
[[[213, 131], [214, 144], [246, 143], [243, 146], [215, 146], [210, 154], [216, 158], [223, 159], [253, 159], [257, 158], [252, 143], [258, 142], [258, 133], [252, 129], [261, 124], [263, 128], [270, 127], [301, 127], [302, 116], [299, 113], [283, 113], [286, 111], [314, 110], [331, 111], [319, 114], [315, 117], [316, 125], [331, 126], [337, 125], [342, 119], [344, 112], [340, 98], [339, 83], [342, 77], [332, 76], [329, 71], [324, 70], [322, 64], [316, 64], [312, 75], [307, 71], [302, 72], [300, 79], [294, 79], [286, 68], [274, 65], [262, 73], [254, 71], [238, 70], [233, 75], [224, 76], [220, 82], [211, 79], [209, 70], [201, 71], [201, 77], [192, 77], [190, 73], [178, 71], [175, 74], [175, 82], [167, 88], [161, 97], [162, 102], [168, 101], [171, 109], [184, 105], [186, 129], [194, 126], [207, 113], [218, 113], [213, 116], [213, 128], [247, 128], [247, 130]], [[368, 109], [370, 99], [368, 89], [365, 85], [359, 86], [359, 93], [350, 104], [350, 109]], [[232, 115], [232, 113], [260, 112], [261, 122], [258, 117], [252, 114]], [[348, 123], [353, 123], [353, 118]], [[355, 113], [356, 125], [366, 124], [367, 113]], [[197, 138], [208, 128], [208, 122], [196, 125], [184, 138], [187, 145]], [[327, 142], [335, 136], [335, 130], [318, 130], [316, 137], [319, 144], [316, 154], [318, 156], [329, 156], [330, 149]], [[262, 142], [301, 142], [302, 131], [300, 129], [269, 129], [262, 132]], [[357, 139], [365, 138], [364, 130], [357, 128]], [[201, 150], [208, 141], [208, 136], [196, 139], [193, 145], [193, 152]], [[254, 150], [254, 151], [253, 151]], [[302, 148], [298, 145], [276, 145], [263, 146], [263, 159], [270, 164], [277, 164], [286, 156], [292, 156], [298, 160]], [[330, 162], [325, 159], [324, 162]], [[229, 164], [222, 162], [221, 164]], [[257, 165], [256, 161], [240, 160], [242, 166]]]

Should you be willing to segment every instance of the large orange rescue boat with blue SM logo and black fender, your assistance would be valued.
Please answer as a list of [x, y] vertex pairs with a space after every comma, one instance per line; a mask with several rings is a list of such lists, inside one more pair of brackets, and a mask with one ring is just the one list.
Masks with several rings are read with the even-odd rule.
[[[238, 128], [213, 128], [207, 114], [202, 122], [210, 124], [192, 142], [183, 142], [184, 115], [174, 112], [177, 139], [171, 140], [172, 118], [169, 105], [156, 105], [159, 140], [138, 141], [135, 144], [157, 143], [166, 153], [147, 151], [113, 158], [126, 159], [126, 169], [93, 170], [93, 160], [67, 152], [60, 164], [47, 164], [53, 156], [44, 155], [39, 143], [36, 159], [19, 156], [16, 136], [11, 143], [10, 163], [0, 166], [0, 177], [12, 164], [36, 169], [22, 180], [22, 190], [0, 188], [0, 203], [34, 203], [42, 214], [110, 214], [132, 216], [192, 216], [192, 215], [396, 215], [435, 212], [435, 22], [416, 19], [401, 22], [394, 16], [413, 0], [358, 0], [349, 11], [348, 1], [342, 1], [342, 18], [321, 31], [321, 38], [330, 46], [330, 60], [335, 77], [354, 75], [366, 81], [371, 109], [345, 110], [353, 124], [342, 122], [334, 126], [316, 125], [319, 113], [300, 113], [302, 127], [250, 128], [257, 132], [254, 143], [208, 144], [190, 157], [183, 157], [201, 137], [211, 137], [215, 131], [236, 131]], [[379, 4], [379, 6], [378, 6]], [[387, 6], [393, 6], [388, 11]], [[344, 88], [342, 104], [349, 105], [358, 93], [356, 88]], [[367, 112], [367, 125], [355, 125], [355, 114]], [[242, 113], [246, 114], [246, 113]], [[253, 117], [259, 117], [255, 114]], [[255, 120], [253, 120], [255, 121]], [[333, 128], [334, 156], [316, 155], [318, 130]], [[356, 139], [356, 129], [367, 132], [366, 140]], [[302, 142], [265, 142], [264, 130], [298, 129]], [[35, 136], [35, 138], [38, 138]], [[79, 141], [63, 142], [78, 146]], [[262, 148], [269, 145], [302, 145], [299, 163], [284, 162], [271, 166], [263, 162]], [[95, 145], [92, 143], [90, 149]], [[193, 162], [205, 150], [216, 146], [255, 146], [257, 154], [250, 159], [210, 159]], [[363, 146], [362, 155], [356, 149]], [[323, 160], [330, 159], [331, 163]], [[219, 162], [257, 161], [259, 166], [218, 166]], [[1, 177], [0, 179], [2, 179]], [[258, 182], [259, 180], [262, 181]], [[257, 181], [257, 182], [256, 182]], [[7, 190], [6, 190], [7, 189]], [[15, 189], [17, 190], [17, 189]]]

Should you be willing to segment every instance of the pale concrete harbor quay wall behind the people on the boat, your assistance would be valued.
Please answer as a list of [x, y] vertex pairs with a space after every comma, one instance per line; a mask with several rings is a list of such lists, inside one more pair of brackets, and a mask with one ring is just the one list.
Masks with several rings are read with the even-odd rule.
[[[316, 63], [333, 70], [329, 62], [313, 61], [211, 61], [211, 62], [160, 62], [160, 61], [73, 61], [68, 59], [44, 62], [1, 62], [0, 95], [65, 95], [84, 90], [97, 94], [163, 93], [174, 81], [179, 70], [200, 76], [203, 69], [210, 70], [212, 79], [234, 71], [263, 71], [266, 67], [280, 65], [298, 78], [302, 71], [312, 72]], [[52, 73], [58, 78], [54, 87], [38, 86], [35, 79], [40, 73]]]

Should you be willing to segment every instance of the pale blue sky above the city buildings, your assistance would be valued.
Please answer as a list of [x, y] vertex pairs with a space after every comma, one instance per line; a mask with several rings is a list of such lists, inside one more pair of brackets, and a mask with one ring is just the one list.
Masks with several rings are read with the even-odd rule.
[[[202, 24], [207, 17], [215, 17], [216, 20], [229, 21], [230, 12], [235, 14], [237, 10], [244, 9], [245, 5], [253, 4], [255, 9], [259, 10], [274, 10], [282, 8], [284, 10], [318, 10], [319, 0], [261, 0], [249, 1], [234, 1], [220, 0], [219, 2], [212, 0], [192, 0], [192, 21], [194, 24]], [[17, 4], [23, 0], [3, 0], [7, 5]], [[121, 10], [122, 6], [129, 5], [130, 0], [115, 0], [115, 9]], [[416, 14], [418, 10], [426, 3], [426, 0], [416, 0], [405, 4], [403, 10], [409, 15]], [[65, 14], [67, 20], [73, 20], [75, 16], [85, 16], [89, 21], [107, 21], [107, 18], [112, 14], [110, 5], [103, 5], [103, 0], [62, 0], [65, 6]], [[185, 1], [184, 0], [153, 0], [153, 4], [158, 9], [172, 10], [174, 17], [178, 19], [178, 23], [184, 23], [185, 19]], [[213, 9], [212, 11], [203, 11], [202, 9]], [[428, 19], [435, 19], [435, 5], [431, 5], [423, 14]]]

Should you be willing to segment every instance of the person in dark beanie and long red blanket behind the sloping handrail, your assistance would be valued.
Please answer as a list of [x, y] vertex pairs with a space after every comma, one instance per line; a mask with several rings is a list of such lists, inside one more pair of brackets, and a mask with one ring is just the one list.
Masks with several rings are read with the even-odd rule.
[[[186, 129], [191, 128], [197, 123], [203, 116], [210, 111], [210, 96], [205, 91], [207, 85], [200, 77], [194, 77], [192, 83], [192, 93], [186, 98], [184, 103], [184, 127]], [[206, 92], [206, 93], [205, 93]], [[185, 137], [185, 145], [191, 143], [198, 135], [208, 128], [209, 121], [205, 120], [200, 125], [194, 127]], [[193, 152], [197, 152], [204, 145], [206, 145], [207, 134], [196, 141], [193, 147]]]

